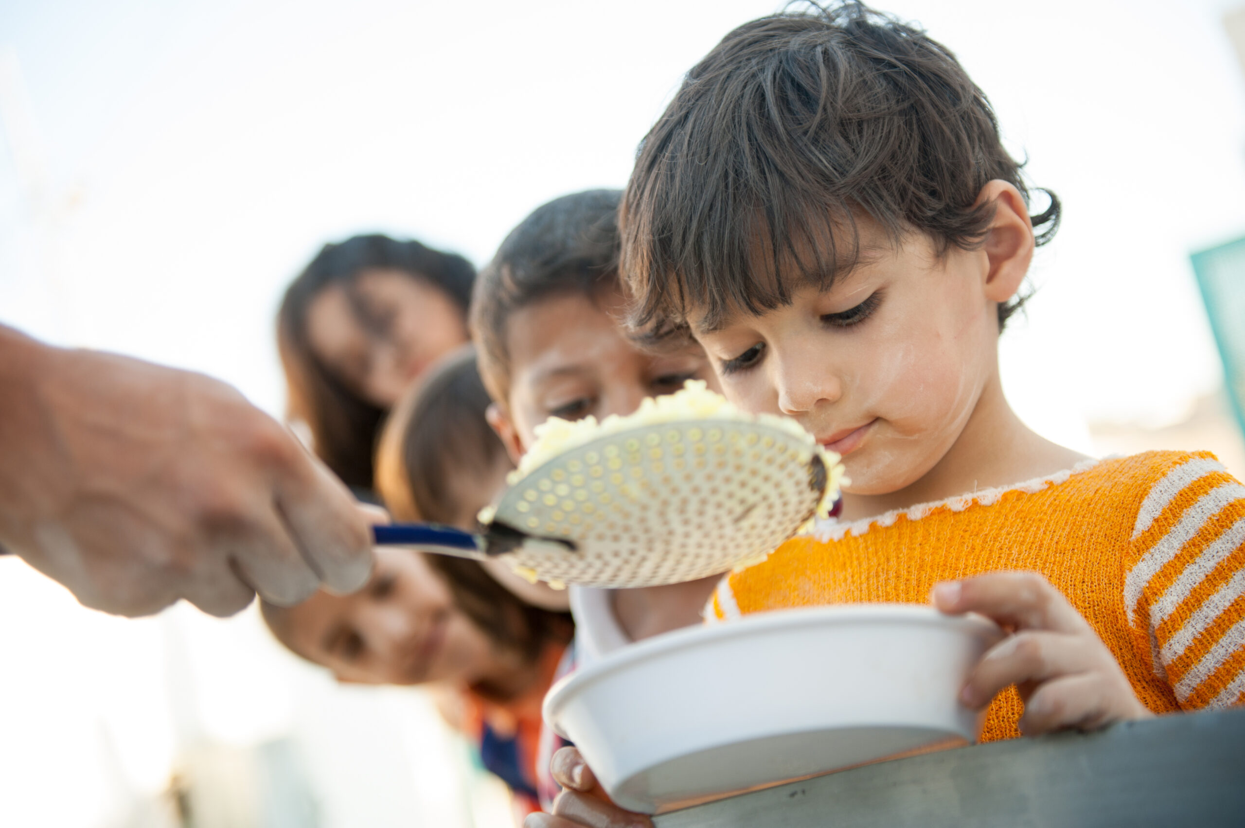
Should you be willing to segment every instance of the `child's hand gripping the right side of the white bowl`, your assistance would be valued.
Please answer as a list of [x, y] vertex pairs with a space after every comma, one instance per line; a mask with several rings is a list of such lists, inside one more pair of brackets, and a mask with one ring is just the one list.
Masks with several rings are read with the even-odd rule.
[[1026, 736], [1144, 718], [1149, 710], [1089, 623], [1037, 573], [1001, 572], [942, 581], [930, 595], [944, 613], [980, 613], [1011, 631], [974, 669], [960, 699], [980, 710], [1015, 684]]

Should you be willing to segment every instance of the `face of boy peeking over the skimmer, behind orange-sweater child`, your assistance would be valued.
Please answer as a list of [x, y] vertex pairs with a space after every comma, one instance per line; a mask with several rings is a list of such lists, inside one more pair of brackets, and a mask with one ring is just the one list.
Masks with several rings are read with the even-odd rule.
[[716, 388], [698, 346], [661, 356], [635, 347], [619, 321], [624, 310], [618, 291], [596, 299], [561, 294], [510, 318], [510, 393], [493, 425], [512, 456], [523, 454], [549, 417], [629, 415], [645, 397], [674, 393], [687, 380]]

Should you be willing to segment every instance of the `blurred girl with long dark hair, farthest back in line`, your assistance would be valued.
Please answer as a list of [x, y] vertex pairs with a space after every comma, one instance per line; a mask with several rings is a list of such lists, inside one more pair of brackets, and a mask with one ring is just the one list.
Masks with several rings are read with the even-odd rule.
[[372, 488], [385, 413], [428, 365], [467, 340], [474, 269], [418, 242], [326, 244], [278, 311], [289, 417], [347, 486]]

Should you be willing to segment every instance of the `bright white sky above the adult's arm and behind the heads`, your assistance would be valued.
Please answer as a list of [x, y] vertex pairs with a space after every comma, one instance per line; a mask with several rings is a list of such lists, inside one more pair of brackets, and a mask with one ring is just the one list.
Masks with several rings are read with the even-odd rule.
[[[1064, 200], [1003, 360], [1022, 412], [1069, 440], [1219, 382], [1188, 254], [1245, 233], [1230, 5], [890, 6], [960, 55]], [[280, 411], [273, 313], [320, 244], [380, 229], [482, 264], [537, 204], [621, 186], [681, 73], [773, 7], [2, 4], [0, 320]]]

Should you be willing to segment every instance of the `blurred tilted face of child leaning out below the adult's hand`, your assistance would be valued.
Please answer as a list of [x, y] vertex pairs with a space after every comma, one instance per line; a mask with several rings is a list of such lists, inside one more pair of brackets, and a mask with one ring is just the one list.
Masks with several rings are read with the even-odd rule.
[[339, 681], [471, 685], [496, 664], [494, 649], [453, 603], [423, 555], [378, 547], [369, 584], [350, 595], [320, 590], [283, 610], [280, 637]]

